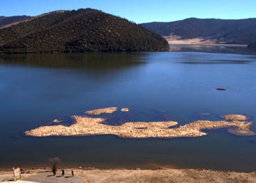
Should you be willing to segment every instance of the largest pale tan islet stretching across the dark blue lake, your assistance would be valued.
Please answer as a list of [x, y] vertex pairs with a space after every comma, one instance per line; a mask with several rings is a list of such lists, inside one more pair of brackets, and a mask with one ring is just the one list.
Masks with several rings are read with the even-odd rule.
[[105, 118], [89, 118], [73, 116], [75, 123], [71, 126], [41, 126], [31, 131], [26, 131], [25, 135], [31, 136], [70, 136], [70, 135], [117, 135], [122, 138], [178, 138], [178, 137], [199, 137], [206, 135], [202, 129], [213, 128], [238, 128], [237, 135], [241, 131], [242, 135], [255, 135], [250, 131], [252, 122], [245, 121], [194, 121], [184, 126], [176, 126], [176, 121], [159, 122], [127, 122], [121, 126], [110, 126], [102, 123]]

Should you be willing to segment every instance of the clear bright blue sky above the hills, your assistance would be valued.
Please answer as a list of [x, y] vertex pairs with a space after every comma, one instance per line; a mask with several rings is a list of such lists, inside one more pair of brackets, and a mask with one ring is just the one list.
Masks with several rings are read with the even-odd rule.
[[136, 23], [190, 17], [256, 17], [256, 0], [1, 0], [0, 16], [36, 16], [49, 11], [80, 8], [100, 9]]

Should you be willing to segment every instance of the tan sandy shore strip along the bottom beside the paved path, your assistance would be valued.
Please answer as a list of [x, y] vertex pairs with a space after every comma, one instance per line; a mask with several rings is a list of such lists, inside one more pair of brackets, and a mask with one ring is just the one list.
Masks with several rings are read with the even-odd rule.
[[[40, 172], [50, 172], [48, 169], [36, 169], [36, 170], [24, 170], [26, 174], [22, 174], [22, 177], [29, 177], [31, 174]], [[162, 182], [162, 183], [238, 183], [256, 182], [256, 172], [229, 172], [229, 171], [217, 171], [217, 170], [196, 170], [196, 169], [170, 169], [161, 168], [157, 170], [127, 170], [127, 169], [115, 169], [115, 170], [80, 170], [74, 169], [76, 176], [85, 179], [85, 182], [101, 182], [101, 183], [116, 183], [116, 182]], [[60, 170], [57, 172], [60, 175]], [[70, 174], [70, 169], [65, 169], [65, 174]], [[0, 182], [9, 180], [12, 178], [10, 171], [0, 171]], [[72, 182], [72, 178], [69, 178]]]

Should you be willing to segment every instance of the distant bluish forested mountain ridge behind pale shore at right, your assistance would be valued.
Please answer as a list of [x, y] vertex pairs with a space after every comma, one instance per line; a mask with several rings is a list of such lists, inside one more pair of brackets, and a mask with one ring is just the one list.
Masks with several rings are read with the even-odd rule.
[[181, 39], [203, 38], [216, 43], [250, 44], [256, 41], [256, 18], [240, 20], [188, 18], [183, 21], [142, 23], [141, 26], [162, 36]]

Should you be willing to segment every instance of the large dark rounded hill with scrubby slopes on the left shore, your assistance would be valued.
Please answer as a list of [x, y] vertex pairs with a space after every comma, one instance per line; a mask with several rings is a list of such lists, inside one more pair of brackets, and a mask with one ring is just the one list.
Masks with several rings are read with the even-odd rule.
[[54, 11], [0, 29], [0, 52], [166, 50], [160, 35], [94, 9]]

